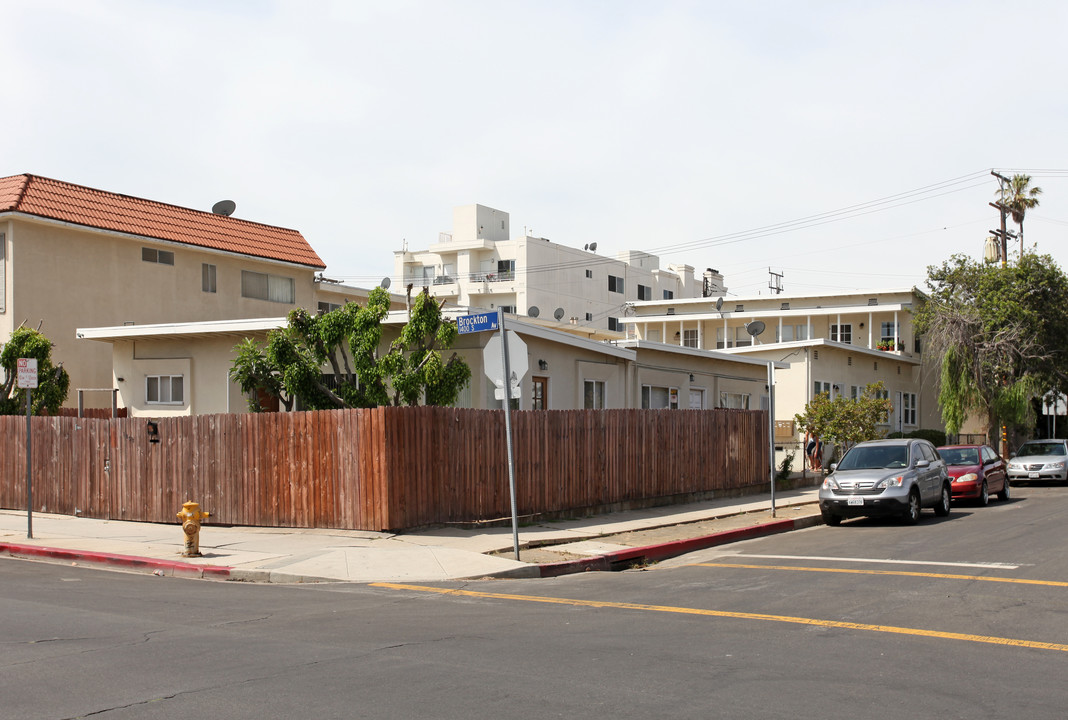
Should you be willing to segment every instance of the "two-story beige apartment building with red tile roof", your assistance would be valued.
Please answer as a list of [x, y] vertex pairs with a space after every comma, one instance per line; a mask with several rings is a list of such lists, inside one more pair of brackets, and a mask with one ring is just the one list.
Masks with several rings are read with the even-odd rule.
[[[21, 323], [77, 389], [112, 388], [111, 349], [79, 327], [278, 317], [317, 307], [324, 263], [301, 234], [37, 175], [0, 178], [0, 343]], [[336, 295], [336, 294], [334, 294]], [[179, 376], [139, 379], [159, 400]], [[89, 393], [87, 406], [110, 405]]]

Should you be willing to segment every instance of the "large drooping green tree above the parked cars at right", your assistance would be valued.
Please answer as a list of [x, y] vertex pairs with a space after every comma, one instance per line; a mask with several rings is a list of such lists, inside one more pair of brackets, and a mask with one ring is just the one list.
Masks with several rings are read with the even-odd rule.
[[1068, 278], [1036, 254], [1012, 266], [954, 255], [927, 272], [915, 325], [937, 367], [946, 432], [970, 417], [991, 438], [1002, 423], [1032, 423], [1036, 394], [1068, 388]]

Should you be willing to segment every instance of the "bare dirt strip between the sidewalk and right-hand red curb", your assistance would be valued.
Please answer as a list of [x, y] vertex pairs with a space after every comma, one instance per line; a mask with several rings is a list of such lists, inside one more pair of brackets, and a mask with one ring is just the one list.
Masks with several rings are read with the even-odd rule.
[[[791, 520], [800, 517], [819, 515], [819, 506], [815, 503], [803, 505], [786, 505], [775, 510], [775, 517], [771, 517], [771, 511], [757, 511], [753, 513], [742, 513], [739, 515], [728, 515], [726, 517], [700, 520], [697, 522], [684, 522], [680, 525], [665, 526], [663, 528], [650, 528], [648, 530], [635, 530], [619, 533], [616, 535], [597, 535], [586, 539], [612, 545], [626, 545], [628, 547], [645, 547], [647, 545], [661, 545], [675, 541], [703, 537], [726, 530], [737, 530], [739, 528], [750, 528], [753, 526], [776, 522], [779, 520]], [[566, 544], [576, 542], [566, 541]], [[568, 560], [581, 560], [590, 555], [575, 554], [566, 550], [555, 550], [557, 546], [545, 545], [533, 548], [519, 548], [519, 560], [524, 563], [543, 564], [559, 563]], [[511, 548], [500, 550], [489, 554], [500, 558], [515, 558], [515, 552]]]

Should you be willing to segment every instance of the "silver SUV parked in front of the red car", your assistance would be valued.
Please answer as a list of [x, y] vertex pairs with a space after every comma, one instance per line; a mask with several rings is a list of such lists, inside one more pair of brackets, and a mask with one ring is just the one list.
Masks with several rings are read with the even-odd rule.
[[915, 525], [924, 507], [948, 515], [952, 497], [945, 463], [930, 442], [868, 440], [831, 466], [819, 488], [819, 511], [830, 526], [861, 515], [900, 516]]

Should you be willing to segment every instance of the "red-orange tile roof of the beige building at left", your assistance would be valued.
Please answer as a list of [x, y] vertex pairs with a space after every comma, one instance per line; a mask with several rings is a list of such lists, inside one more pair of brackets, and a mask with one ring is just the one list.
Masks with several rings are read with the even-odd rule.
[[295, 230], [167, 205], [38, 175], [0, 177], [0, 213], [21, 213], [88, 228], [130, 233], [325, 268]]

